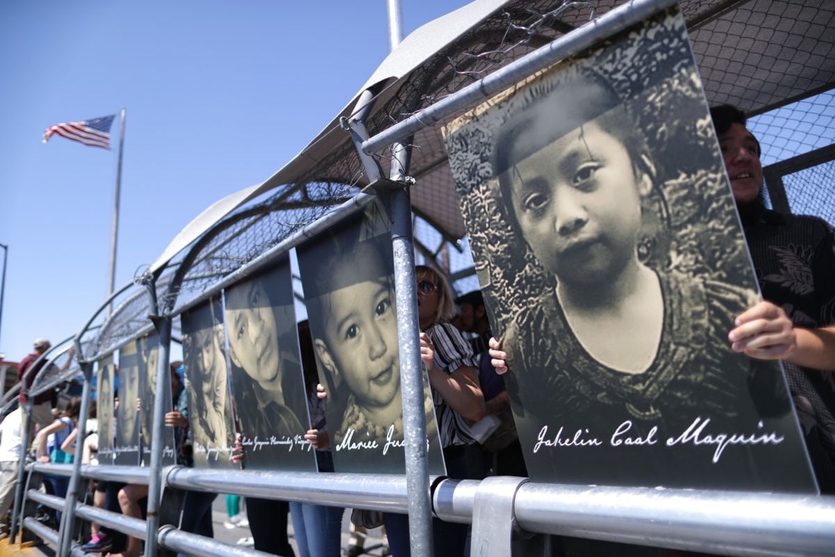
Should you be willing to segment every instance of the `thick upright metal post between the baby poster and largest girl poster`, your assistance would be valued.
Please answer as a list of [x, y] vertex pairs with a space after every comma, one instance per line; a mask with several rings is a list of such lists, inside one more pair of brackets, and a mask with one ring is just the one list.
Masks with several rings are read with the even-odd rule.
[[409, 149], [392, 145], [392, 180], [404, 183], [393, 190], [392, 250], [397, 304], [397, 343], [403, 401], [403, 436], [406, 441], [406, 491], [409, 504], [409, 543], [412, 555], [431, 556], [432, 499], [429, 494], [426, 418], [423, 414], [423, 367], [420, 359], [420, 322], [417, 318], [415, 251], [412, 242], [412, 205], [405, 182]]

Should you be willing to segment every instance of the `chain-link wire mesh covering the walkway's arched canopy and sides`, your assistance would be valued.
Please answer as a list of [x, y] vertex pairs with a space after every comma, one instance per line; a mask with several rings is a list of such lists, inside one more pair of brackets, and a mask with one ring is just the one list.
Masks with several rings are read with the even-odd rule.
[[[419, 117], [422, 109], [439, 99], [625, 3], [628, 0], [507, 4], [378, 92], [377, 104], [367, 119], [369, 134], [409, 115]], [[835, 7], [831, 2], [682, 0], [680, 6], [710, 104], [736, 104], [759, 114], [810, 93], [827, 91], [835, 84]], [[775, 157], [783, 157], [788, 144], [801, 144], [804, 149], [829, 144], [832, 103], [830, 92], [803, 104], [800, 113], [792, 113], [801, 116], [768, 113], [772, 116], [766, 122], [763, 114], [757, 126], [762, 121], [768, 132], [755, 133]], [[802, 138], [797, 136], [798, 129], [804, 132]], [[176, 274], [170, 287], [158, 287], [165, 311], [176, 313], [230, 272], [356, 195], [357, 186], [364, 184], [367, 176], [349, 134], [335, 125], [326, 137], [344, 139], [324, 154], [316, 152], [315, 157], [316, 144], [311, 144], [302, 155], [316, 160], [308, 170], [274, 190], [266, 200], [235, 211], [191, 246], [181, 266], [171, 271]], [[421, 217], [416, 222], [416, 237], [426, 248], [418, 259], [435, 259], [453, 277], [464, 276], [455, 284], [459, 293], [473, 290], [478, 283], [473, 276], [466, 276], [473, 262], [466, 240], [459, 241], [464, 235], [463, 220], [440, 126], [419, 131], [411, 143], [409, 174], [417, 178], [412, 206]], [[389, 151], [378, 154], [384, 173], [391, 155]], [[818, 179], [823, 180], [817, 175], [798, 180]], [[137, 331], [140, 322], [147, 323], [144, 298], [147, 296], [131, 299], [119, 316], [106, 324], [92, 352], [101, 353], [102, 347], [114, 346], [118, 339]]]

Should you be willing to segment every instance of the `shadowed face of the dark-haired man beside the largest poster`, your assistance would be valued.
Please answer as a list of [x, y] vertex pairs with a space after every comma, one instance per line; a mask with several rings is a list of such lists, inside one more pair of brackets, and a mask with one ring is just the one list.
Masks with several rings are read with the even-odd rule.
[[731, 190], [737, 203], [756, 200], [762, 188], [760, 146], [753, 134], [742, 124], [734, 122], [719, 135], [719, 146], [725, 169], [731, 179]]

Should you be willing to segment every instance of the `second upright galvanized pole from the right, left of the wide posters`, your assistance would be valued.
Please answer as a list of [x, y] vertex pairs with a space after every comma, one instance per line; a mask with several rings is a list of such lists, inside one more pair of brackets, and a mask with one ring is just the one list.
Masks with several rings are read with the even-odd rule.
[[[150, 288], [154, 288], [153, 285]], [[154, 304], [155, 306], [156, 304]], [[159, 359], [157, 360], [156, 393], [154, 398], [154, 423], [151, 428], [151, 465], [148, 478], [148, 518], [144, 557], [154, 557], [159, 530], [159, 501], [162, 499], [162, 452], [165, 447], [165, 413], [171, 409], [171, 379], [169, 372], [171, 317], [151, 316], [159, 335]]]

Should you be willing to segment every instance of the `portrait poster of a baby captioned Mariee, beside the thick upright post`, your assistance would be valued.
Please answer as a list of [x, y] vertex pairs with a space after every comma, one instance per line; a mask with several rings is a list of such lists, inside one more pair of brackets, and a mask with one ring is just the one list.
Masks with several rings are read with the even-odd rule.
[[[378, 205], [297, 248], [337, 472], [404, 473], [394, 266]], [[429, 470], [443, 454], [424, 377]]]

